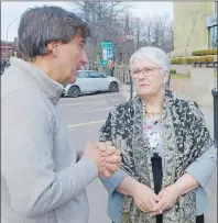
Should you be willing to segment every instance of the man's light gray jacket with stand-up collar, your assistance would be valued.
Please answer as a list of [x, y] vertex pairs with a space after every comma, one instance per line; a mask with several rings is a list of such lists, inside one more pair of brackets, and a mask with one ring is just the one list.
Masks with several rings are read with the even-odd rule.
[[88, 223], [85, 188], [98, 169], [70, 145], [63, 86], [18, 58], [1, 85], [1, 222]]

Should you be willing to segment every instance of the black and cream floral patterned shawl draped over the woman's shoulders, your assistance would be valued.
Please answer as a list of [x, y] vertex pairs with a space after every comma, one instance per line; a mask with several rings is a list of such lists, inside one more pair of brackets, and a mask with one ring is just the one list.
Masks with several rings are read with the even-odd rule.
[[[126, 172], [153, 189], [151, 148], [144, 134], [144, 105], [139, 96], [118, 105], [109, 113], [100, 140], [111, 141], [121, 150], [121, 168]], [[214, 142], [195, 102], [179, 99], [174, 93], [165, 96], [161, 116], [164, 141], [162, 187], [165, 188], [183, 176], [194, 160], [214, 146]], [[130, 197], [124, 197], [122, 215], [128, 215], [131, 223], [155, 222], [155, 218], [137, 209]], [[196, 197], [192, 191], [164, 212], [163, 223], [194, 223], [195, 218]]]

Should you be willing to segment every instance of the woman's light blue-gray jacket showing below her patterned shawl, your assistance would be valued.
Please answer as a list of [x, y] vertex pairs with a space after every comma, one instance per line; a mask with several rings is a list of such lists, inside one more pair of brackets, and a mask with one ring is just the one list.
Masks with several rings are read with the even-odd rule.
[[[199, 183], [196, 192], [196, 215], [200, 215], [205, 212], [207, 208], [207, 193], [205, 187], [209, 181], [211, 175], [217, 167], [217, 148], [211, 147], [199, 158], [197, 158], [193, 164], [190, 164], [186, 172], [193, 176]], [[115, 223], [121, 223], [121, 211], [123, 196], [116, 191], [116, 188], [120, 182], [128, 177], [123, 170], [117, 171], [112, 177], [105, 178], [101, 177], [100, 180], [103, 183], [105, 188], [108, 190], [108, 215], [111, 221]]]

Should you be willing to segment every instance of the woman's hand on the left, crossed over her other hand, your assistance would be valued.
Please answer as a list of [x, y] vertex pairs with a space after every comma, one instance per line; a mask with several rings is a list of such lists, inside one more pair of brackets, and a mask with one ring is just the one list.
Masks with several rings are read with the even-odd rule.
[[157, 202], [160, 201], [160, 198], [151, 188], [140, 182], [137, 183], [132, 197], [137, 207], [143, 212], [150, 212], [150, 210], [157, 205]]

